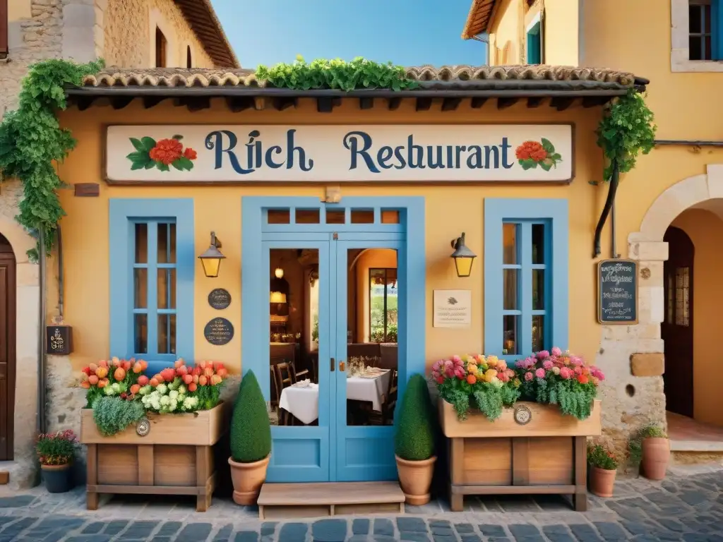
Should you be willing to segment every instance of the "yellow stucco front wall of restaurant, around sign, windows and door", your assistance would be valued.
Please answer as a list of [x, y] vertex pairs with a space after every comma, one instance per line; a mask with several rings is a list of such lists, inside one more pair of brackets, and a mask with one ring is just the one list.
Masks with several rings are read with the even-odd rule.
[[[63, 219], [65, 258], [65, 317], [74, 326], [75, 353], [72, 366], [108, 356], [108, 199], [111, 197], [192, 197], [194, 199], [195, 251], [208, 248], [208, 233], [215, 231], [223, 240], [226, 260], [221, 277], [205, 278], [200, 264], [195, 280], [195, 354], [197, 359], [215, 359], [237, 372], [241, 341], [241, 197], [247, 195], [297, 195], [322, 197], [323, 189], [314, 186], [195, 186], [143, 187], [108, 186], [101, 178], [103, 125], [106, 124], [473, 124], [519, 122], [565, 122], [576, 124], [576, 180], [568, 186], [342, 186], [342, 196], [424, 196], [426, 199], [427, 284], [426, 291], [416, 293], [426, 298], [427, 361], [454, 353], [479, 352], [483, 345], [482, 306], [484, 278], [483, 209], [486, 197], [568, 198], [570, 200], [570, 348], [594, 360], [601, 330], [596, 324], [595, 262], [590, 258], [593, 232], [602, 207], [601, 192], [587, 181], [602, 167], [593, 134], [600, 110], [571, 109], [562, 113], [552, 108], [526, 108], [524, 103], [498, 111], [483, 108], [471, 116], [469, 103], [458, 111], [418, 113], [413, 102], [404, 102], [397, 111], [375, 108], [359, 111], [358, 103], [349, 101], [334, 113], [321, 115], [316, 105], [301, 100], [299, 107], [283, 112], [245, 111], [228, 113], [214, 101], [214, 108], [199, 113], [161, 103], [152, 109], [132, 104], [120, 111], [90, 108], [84, 112], [61, 113], [61, 123], [72, 129], [77, 148], [61, 165], [61, 178], [73, 183], [100, 183], [100, 197], [74, 197], [61, 191], [61, 202], [68, 216]], [[479, 255], [471, 278], [458, 278], [450, 259], [450, 240], [462, 231], [467, 244]], [[234, 303], [224, 311], [236, 328], [228, 345], [210, 345], [203, 337], [203, 326], [215, 317], [208, 306], [208, 292], [227, 288]], [[471, 289], [472, 324], [469, 329], [448, 330], [432, 327], [432, 290], [435, 288]], [[48, 317], [54, 313], [54, 293], [48, 298]]]

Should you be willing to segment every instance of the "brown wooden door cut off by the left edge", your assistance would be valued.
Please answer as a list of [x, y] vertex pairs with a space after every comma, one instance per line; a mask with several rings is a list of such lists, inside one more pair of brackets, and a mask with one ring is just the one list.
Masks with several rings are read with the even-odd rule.
[[0, 461], [12, 460], [15, 406], [15, 257], [0, 236]]

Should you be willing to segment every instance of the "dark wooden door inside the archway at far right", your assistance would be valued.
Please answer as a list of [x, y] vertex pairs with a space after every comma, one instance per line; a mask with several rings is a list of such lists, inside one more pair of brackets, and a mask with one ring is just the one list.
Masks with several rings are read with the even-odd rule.
[[693, 241], [683, 230], [670, 227], [663, 238], [668, 260], [663, 267], [665, 342], [663, 375], [666, 410], [693, 417]]

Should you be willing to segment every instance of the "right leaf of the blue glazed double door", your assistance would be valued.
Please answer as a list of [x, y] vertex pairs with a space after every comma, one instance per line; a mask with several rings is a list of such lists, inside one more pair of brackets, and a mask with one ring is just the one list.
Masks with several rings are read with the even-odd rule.
[[399, 241], [336, 244], [338, 481], [395, 479]]

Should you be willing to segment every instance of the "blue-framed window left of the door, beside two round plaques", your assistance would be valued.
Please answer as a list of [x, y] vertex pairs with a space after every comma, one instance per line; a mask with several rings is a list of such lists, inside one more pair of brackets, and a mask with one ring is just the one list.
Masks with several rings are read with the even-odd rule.
[[111, 355], [159, 371], [192, 361], [191, 199], [111, 199]]

